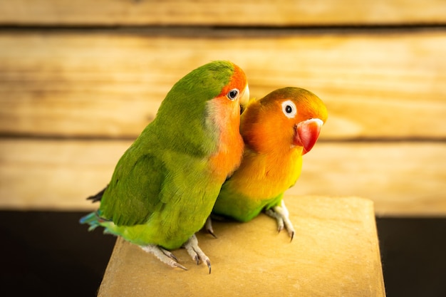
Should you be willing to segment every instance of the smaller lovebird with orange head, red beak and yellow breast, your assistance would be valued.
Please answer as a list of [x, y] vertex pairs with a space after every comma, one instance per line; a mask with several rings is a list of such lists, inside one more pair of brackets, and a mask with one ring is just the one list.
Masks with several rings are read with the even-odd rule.
[[[281, 88], [249, 101], [240, 123], [242, 164], [224, 182], [212, 214], [248, 222], [264, 211], [292, 240], [294, 227], [282, 198], [299, 179], [302, 155], [315, 145], [326, 119], [322, 100], [303, 88]], [[213, 234], [210, 219], [205, 228]]]

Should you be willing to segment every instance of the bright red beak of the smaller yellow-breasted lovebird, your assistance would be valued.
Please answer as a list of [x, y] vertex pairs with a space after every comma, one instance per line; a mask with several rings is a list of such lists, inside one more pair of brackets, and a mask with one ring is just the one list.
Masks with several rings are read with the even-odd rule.
[[294, 127], [294, 145], [299, 145], [299, 147], [304, 147], [302, 155], [309, 152], [318, 140], [319, 133], [321, 132], [321, 127], [323, 121], [315, 118], [310, 120], [304, 120], [303, 122], [297, 124]]

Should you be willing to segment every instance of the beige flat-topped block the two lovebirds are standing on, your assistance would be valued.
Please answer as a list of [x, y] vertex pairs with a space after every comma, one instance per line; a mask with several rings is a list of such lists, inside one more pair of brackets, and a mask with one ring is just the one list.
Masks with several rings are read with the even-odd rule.
[[214, 222], [197, 234], [212, 262], [172, 269], [118, 239], [98, 296], [385, 296], [373, 202], [358, 197], [286, 197], [296, 235], [261, 214]]

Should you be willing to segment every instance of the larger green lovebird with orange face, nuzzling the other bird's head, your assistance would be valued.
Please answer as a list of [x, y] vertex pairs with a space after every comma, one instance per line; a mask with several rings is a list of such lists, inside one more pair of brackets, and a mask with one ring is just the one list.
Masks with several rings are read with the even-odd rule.
[[210, 273], [195, 233], [242, 160], [240, 104], [248, 100], [247, 77], [232, 62], [213, 61], [185, 75], [120, 157], [108, 186], [89, 197], [100, 207], [81, 224], [103, 226], [104, 233], [187, 270], [172, 254], [185, 247]]

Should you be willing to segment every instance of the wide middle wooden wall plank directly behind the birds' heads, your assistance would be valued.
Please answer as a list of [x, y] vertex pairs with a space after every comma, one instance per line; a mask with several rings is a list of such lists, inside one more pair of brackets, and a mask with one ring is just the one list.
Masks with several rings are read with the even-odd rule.
[[0, 48], [3, 135], [136, 137], [178, 79], [217, 59], [244, 68], [256, 98], [319, 95], [321, 139], [446, 135], [441, 30], [1, 31]]

